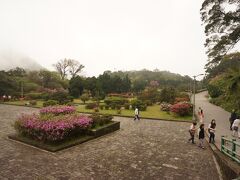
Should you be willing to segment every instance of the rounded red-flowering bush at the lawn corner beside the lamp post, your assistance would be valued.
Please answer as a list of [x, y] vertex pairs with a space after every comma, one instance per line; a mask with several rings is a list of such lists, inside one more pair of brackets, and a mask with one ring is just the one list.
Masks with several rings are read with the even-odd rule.
[[192, 113], [192, 105], [189, 103], [177, 103], [172, 105], [171, 112], [179, 116], [190, 115]]

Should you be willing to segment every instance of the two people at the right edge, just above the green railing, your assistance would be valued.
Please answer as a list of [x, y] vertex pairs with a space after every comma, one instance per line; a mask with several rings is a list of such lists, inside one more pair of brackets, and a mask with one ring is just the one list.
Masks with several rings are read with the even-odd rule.
[[240, 125], [240, 118], [237, 115], [235, 109], [232, 110], [229, 121], [230, 121], [230, 130], [232, 131], [232, 136], [240, 138], [240, 132], [238, 131], [238, 127]]

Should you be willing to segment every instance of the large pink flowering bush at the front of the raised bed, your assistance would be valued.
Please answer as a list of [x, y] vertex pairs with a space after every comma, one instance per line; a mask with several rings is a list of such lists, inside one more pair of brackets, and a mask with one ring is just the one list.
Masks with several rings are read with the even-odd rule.
[[[51, 109], [52, 110], [52, 109]], [[51, 113], [61, 114], [62, 111], [51, 111]], [[44, 113], [49, 111], [43, 111]], [[66, 112], [72, 112], [68, 110]], [[92, 125], [92, 119], [79, 114], [67, 114], [59, 116], [49, 116], [50, 119], [42, 119], [41, 115], [23, 114], [14, 124], [15, 129], [21, 135], [33, 139], [56, 142], [64, 140], [75, 134], [84, 133]], [[46, 116], [45, 116], [46, 118]]]

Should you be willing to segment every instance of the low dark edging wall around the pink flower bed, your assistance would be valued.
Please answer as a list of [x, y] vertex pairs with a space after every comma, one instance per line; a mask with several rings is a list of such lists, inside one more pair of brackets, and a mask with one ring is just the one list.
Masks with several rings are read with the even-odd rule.
[[120, 122], [111, 121], [110, 123], [103, 125], [101, 127], [98, 127], [96, 129], [88, 130], [87, 135], [85, 136], [78, 136], [78, 137], [75, 136], [73, 138], [69, 138], [65, 141], [61, 141], [58, 143], [44, 143], [44, 142], [36, 141], [31, 138], [17, 135], [17, 134], [9, 135], [8, 138], [11, 140], [19, 141], [19, 142], [46, 150], [46, 151], [57, 152], [57, 151], [87, 142], [97, 137], [109, 134], [119, 129], [120, 129]]

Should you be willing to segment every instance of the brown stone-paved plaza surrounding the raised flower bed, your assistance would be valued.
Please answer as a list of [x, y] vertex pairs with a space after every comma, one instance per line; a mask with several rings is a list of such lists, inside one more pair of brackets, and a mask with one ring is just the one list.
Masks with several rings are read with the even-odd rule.
[[209, 147], [187, 143], [189, 123], [116, 117], [121, 130], [58, 153], [7, 139], [16, 117], [37, 109], [0, 105], [0, 179], [218, 180]]

